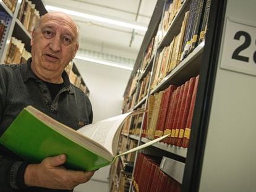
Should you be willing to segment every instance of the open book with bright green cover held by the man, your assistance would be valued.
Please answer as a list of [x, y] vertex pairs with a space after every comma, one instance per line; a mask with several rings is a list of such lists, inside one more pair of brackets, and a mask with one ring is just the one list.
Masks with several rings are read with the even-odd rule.
[[66, 154], [65, 166], [74, 170], [96, 170], [111, 164], [116, 157], [150, 146], [166, 136], [117, 155], [122, 124], [134, 111], [75, 131], [32, 106], [25, 107], [0, 138], [0, 143], [30, 163], [49, 156]]

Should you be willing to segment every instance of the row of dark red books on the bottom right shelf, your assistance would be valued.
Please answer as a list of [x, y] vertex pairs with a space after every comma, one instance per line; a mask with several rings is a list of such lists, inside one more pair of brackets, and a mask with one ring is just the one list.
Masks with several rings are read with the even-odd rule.
[[134, 170], [135, 191], [179, 192], [181, 184], [160, 170], [160, 159], [139, 153]]

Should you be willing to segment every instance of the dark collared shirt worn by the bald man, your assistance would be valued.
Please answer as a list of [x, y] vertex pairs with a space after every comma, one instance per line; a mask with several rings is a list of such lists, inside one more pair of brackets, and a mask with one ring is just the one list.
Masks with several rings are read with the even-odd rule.
[[[85, 93], [70, 83], [67, 73], [62, 73], [64, 86], [52, 99], [45, 83], [33, 74], [31, 62], [29, 59], [27, 64], [0, 65], [0, 135], [28, 105], [75, 130], [92, 123], [92, 105]], [[0, 156], [0, 191], [24, 187], [27, 164], [1, 145]], [[23, 191], [53, 190], [25, 188]]]

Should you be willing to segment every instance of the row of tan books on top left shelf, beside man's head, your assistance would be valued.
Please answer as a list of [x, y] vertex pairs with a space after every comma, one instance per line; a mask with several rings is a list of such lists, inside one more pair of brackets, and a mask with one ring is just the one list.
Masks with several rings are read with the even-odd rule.
[[35, 9], [35, 4], [33, 4], [31, 1], [23, 0], [20, 4], [17, 19], [20, 20], [29, 33], [32, 33], [35, 24], [40, 19], [40, 13]]

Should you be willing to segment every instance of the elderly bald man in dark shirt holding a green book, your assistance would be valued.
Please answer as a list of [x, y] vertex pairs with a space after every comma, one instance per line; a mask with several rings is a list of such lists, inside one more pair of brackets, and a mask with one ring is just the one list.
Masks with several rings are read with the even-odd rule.
[[[69, 15], [48, 13], [33, 30], [27, 64], [0, 65], [0, 135], [28, 105], [74, 129], [92, 123], [89, 99], [64, 71], [79, 48], [78, 35]], [[28, 164], [0, 146], [0, 156], [0, 191], [68, 191], [93, 175], [65, 169], [64, 154]]]

